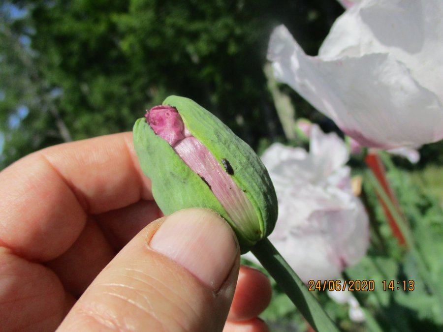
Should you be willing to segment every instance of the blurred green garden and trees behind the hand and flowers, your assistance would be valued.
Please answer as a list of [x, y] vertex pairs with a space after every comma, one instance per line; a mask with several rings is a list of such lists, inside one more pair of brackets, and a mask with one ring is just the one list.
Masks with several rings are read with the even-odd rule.
[[[170, 94], [195, 100], [257, 152], [273, 142], [307, 147], [285, 133], [275, 91], [290, 98], [293, 121], [306, 118], [343, 137], [332, 121], [277, 85], [265, 70], [269, 36], [277, 25], [285, 24], [306, 53], [316, 55], [343, 11], [336, 0], [1, 1], [0, 169], [54, 144], [129, 131], [146, 109]], [[431, 254], [429, 244], [443, 239], [442, 151], [442, 142], [426, 145], [416, 164], [384, 156], [387, 178], [400, 207], [407, 207], [403, 213], [416, 242], [428, 244], [419, 249], [430, 257], [431, 267], [441, 251]], [[358, 155], [349, 165], [356, 174], [366, 167]], [[390, 278], [414, 277], [409, 274], [413, 261], [392, 237], [374, 191], [363, 184], [363, 193], [371, 247], [363, 263], [345, 276], [370, 279], [383, 268]], [[418, 221], [425, 225], [424, 235], [415, 227]], [[428, 233], [437, 240], [429, 240]], [[432, 273], [438, 278], [441, 272]], [[275, 331], [306, 329], [275, 288], [264, 318]], [[346, 307], [318, 293], [345, 331], [434, 331], [439, 326], [426, 311], [433, 301], [429, 289], [415, 292], [413, 299], [380, 287], [359, 295], [369, 315], [363, 323], [352, 322]]]

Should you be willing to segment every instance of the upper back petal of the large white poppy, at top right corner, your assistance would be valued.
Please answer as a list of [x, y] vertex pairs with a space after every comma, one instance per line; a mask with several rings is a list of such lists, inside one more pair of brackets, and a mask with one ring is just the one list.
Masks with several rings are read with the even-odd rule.
[[443, 99], [443, 1], [364, 0], [334, 23], [322, 60], [389, 54], [425, 89]]

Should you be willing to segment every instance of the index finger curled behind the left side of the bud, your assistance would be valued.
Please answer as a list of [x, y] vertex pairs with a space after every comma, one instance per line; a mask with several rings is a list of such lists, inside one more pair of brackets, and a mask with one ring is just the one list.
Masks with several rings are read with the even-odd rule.
[[34, 152], [0, 173], [0, 245], [50, 260], [82, 231], [88, 214], [152, 200], [131, 133]]

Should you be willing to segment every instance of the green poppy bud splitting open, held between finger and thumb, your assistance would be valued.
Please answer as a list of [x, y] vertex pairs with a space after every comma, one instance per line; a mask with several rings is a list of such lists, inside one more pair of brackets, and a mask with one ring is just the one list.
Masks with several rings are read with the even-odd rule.
[[178, 96], [135, 122], [134, 146], [164, 214], [199, 207], [217, 211], [242, 252], [268, 236], [277, 198], [251, 147], [194, 101]]

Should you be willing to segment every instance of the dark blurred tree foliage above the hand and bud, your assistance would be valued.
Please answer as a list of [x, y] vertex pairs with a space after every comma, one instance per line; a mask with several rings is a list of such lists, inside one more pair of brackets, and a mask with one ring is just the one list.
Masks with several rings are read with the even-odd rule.
[[211, 110], [253, 147], [283, 137], [262, 71], [270, 33], [284, 23], [316, 54], [342, 12], [331, 0], [3, 2], [0, 166], [130, 130], [170, 94]]

